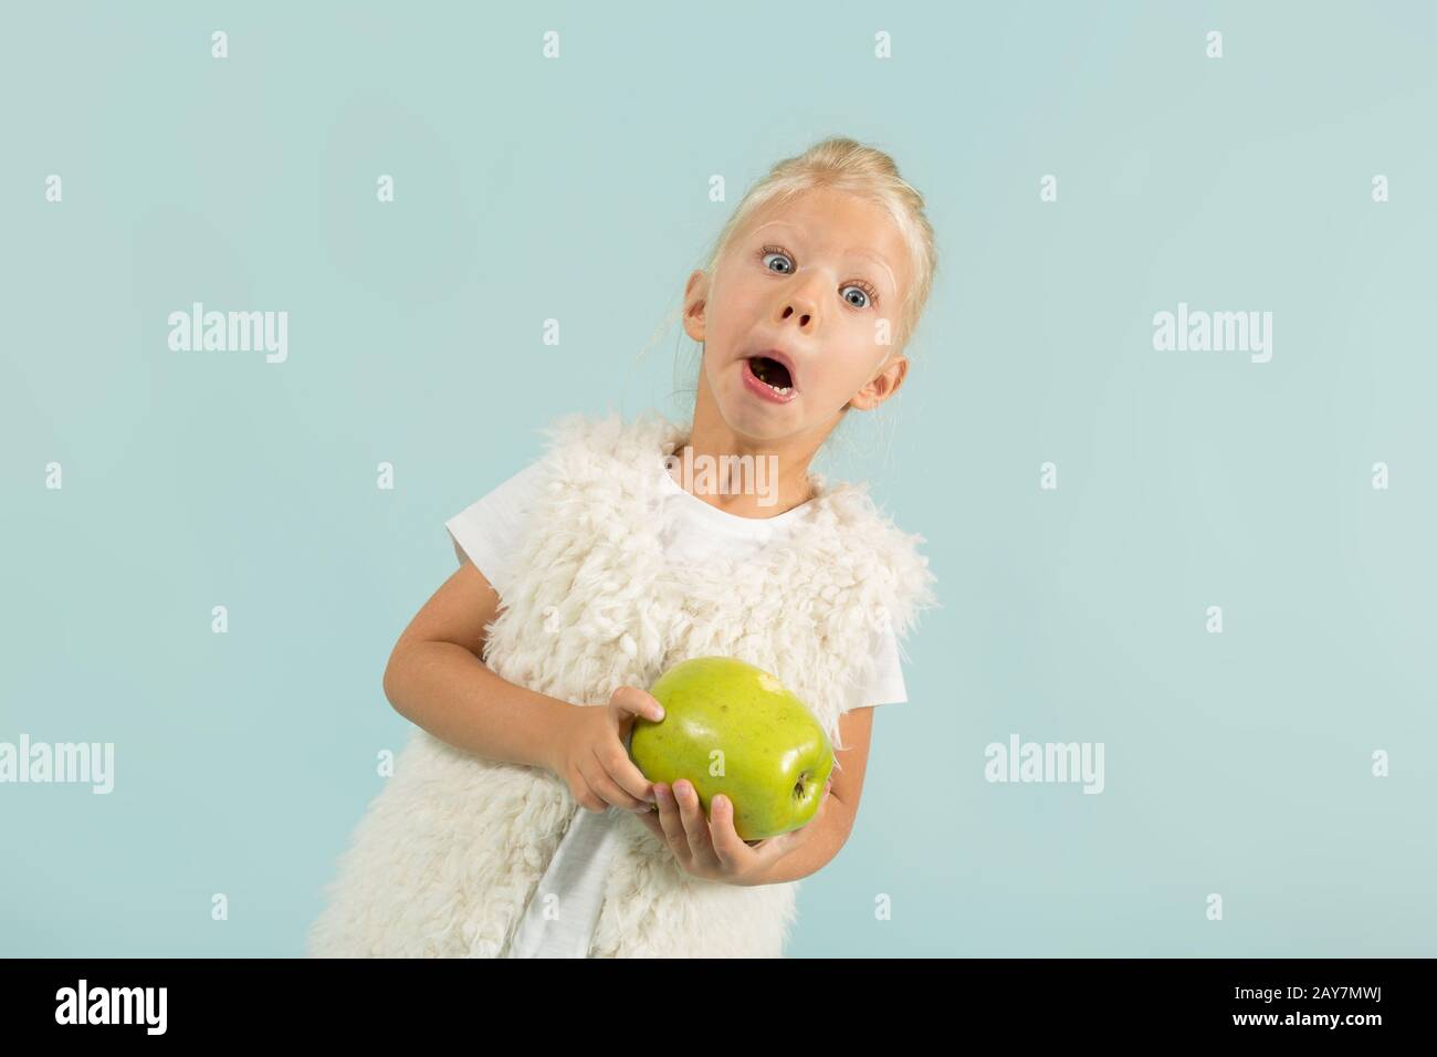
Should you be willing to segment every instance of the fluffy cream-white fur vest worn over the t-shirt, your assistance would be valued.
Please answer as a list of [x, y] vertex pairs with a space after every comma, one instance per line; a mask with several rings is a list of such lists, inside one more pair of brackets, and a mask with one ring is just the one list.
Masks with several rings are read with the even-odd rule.
[[[864, 486], [829, 488], [808, 526], [759, 559], [678, 568], [657, 509], [664, 457], [687, 436], [657, 413], [573, 414], [550, 430], [550, 476], [484, 663], [575, 705], [648, 687], [687, 657], [773, 672], [839, 743], [838, 719], [872, 667], [871, 636], [902, 639], [933, 605], [923, 536], [900, 532]], [[552, 772], [480, 759], [415, 728], [326, 886], [310, 956], [496, 956], [578, 808]], [[628, 813], [589, 955], [780, 956], [798, 882], [693, 877]], [[560, 907], [562, 912], [562, 907]]]

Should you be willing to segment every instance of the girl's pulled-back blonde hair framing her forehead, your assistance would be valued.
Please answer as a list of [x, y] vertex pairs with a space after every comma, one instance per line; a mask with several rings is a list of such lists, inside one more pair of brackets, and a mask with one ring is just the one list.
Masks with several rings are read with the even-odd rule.
[[763, 209], [782, 206], [819, 187], [845, 191], [879, 206], [902, 236], [911, 262], [911, 282], [904, 292], [897, 332], [892, 335], [894, 348], [902, 348], [928, 303], [933, 276], [938, 269], [938, 249], [933, 226], [923, 211], [923, 196], [898, 174], [894, 160], [875, 147], [865, 147], [846, 137], [829, 137], [803, 154], [773, 165], [767, 175], [749, 188], [723, 226], [704, 270], [713, 275], [718, 259]]

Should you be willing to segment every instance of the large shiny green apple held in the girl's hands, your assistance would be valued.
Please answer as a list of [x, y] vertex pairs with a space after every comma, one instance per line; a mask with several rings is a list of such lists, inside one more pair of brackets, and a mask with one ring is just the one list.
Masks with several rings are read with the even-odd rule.
[[639, 716], [629, 738], [648, 781], [688, 779], [706, 815], [714, 794], [724, 794], [746, 841], [796, 830], [818, 814], [833, 746], [775, 676], [734, 657], [694, 657], [661, 674], [650, 693], [664, 718]]

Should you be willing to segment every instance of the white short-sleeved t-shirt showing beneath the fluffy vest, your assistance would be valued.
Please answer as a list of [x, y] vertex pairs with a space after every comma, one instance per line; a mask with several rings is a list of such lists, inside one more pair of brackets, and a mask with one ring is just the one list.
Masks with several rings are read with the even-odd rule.
[[[540, 483], [542, 463], [535, 462], [483, 499], [450, 518], [444, 528], [454, 541], [456, 555], [468, 558], [503, 597], [509, 588], [510, 564], [523, 542], [527, 515]], [[706, 503], [684, 490], [668, 473], [660, 475], [665, 495], [660, 513], [664, 554], [674, 562], [706, 561], [716, 552], [743, 555], [767, 546], [779, 534], [792, 532], [812, 515], [813, 503], [802, 503], [775, 518], [741, 518]], [[849, 708], [897, 705], [908, 700], [898, 662], [898, 640], [891, 628], [874, 633], [875, 672], [872, 683], [855, 693]], [[604, 899], [604, 880], [614, 853], [616, 827], [624, 808], [602, 814], [576, 810], [549, 869], [539, 882], [523, 920], [514, 933], [509, 958], [583, 958]], [[559, 915], [545, 918], [549, 894], [558, 896]]]

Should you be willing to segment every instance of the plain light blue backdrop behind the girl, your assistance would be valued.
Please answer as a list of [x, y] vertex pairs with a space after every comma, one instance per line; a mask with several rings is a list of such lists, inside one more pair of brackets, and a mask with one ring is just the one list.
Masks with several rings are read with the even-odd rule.
[[[943, 256], [825, 466], [944, 608], [789, 953], [1437, 953], [1434, 52], [1421, 3], [9, 7], [0, 741], [118, 759], [0, 785], [0, 952], [300, 953], [443, 522], [562, 413], [684, 414], [688, 270], [844, 134]], [[289, 361], [171, 352], [193, 301]], [[1180, 301], [1272, 311], [1272, 362], [1154, 351]], [[1105, 792], [986, 782], [1010, 733]]]

